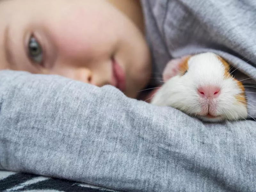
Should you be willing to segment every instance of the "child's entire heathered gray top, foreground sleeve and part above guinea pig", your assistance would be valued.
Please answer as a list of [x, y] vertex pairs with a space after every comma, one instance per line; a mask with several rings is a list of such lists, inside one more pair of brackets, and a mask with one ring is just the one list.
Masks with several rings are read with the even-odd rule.
[[[253, 1], [145, 0], [143, 7], [156, 73], [172, 57], [210, 50], [255, 77]], [[203, 123], [110, 85], [5, 70], [0, 169], [120, 191], [254, 192], [256, 122]]]

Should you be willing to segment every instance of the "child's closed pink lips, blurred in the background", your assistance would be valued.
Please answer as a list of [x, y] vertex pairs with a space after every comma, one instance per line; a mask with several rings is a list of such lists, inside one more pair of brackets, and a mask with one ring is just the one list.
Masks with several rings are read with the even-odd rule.
[[112, 58], [112, 66], [113, 66], [112, 85], [114, 85], [117, 89], [124, 91], [125, 90], [124, 70], [121, 68], [119, 63], [116, 62], [115, 58]]

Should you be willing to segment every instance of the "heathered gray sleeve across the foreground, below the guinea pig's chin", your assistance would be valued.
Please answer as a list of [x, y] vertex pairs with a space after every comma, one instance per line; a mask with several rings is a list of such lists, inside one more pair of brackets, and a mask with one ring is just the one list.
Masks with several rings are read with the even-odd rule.
[[0, 71], [0, 167], [120, 191], [255, 191], [256, 122], [206, 124], [59, 76]]

